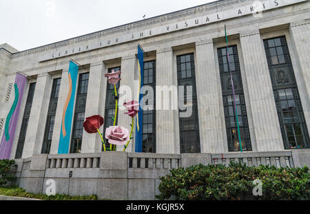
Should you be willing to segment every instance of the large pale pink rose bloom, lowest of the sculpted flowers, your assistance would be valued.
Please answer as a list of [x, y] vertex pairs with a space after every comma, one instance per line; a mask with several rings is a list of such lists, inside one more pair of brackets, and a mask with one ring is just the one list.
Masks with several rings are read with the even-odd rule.
[[105, 139], [113, 145], [125, 145], [130, 139], [130, 134], [127, 128], [110, 126], [105, 130]]

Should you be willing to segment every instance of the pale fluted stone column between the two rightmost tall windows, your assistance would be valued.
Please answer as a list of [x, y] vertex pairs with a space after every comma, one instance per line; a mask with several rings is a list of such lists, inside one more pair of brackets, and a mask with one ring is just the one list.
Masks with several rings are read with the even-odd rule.
[[240, 34], [240, 44], [245, 64], [245, 77], [242, 78], [247, 82], [243, 86], [249, 91], [247, 112], [251, 111], [254, 123], [255, 136], [251, 139], [256, 139], [258, 152], [282, 151], [284, 146], [276, 102], [260, 32], [254, 30]]

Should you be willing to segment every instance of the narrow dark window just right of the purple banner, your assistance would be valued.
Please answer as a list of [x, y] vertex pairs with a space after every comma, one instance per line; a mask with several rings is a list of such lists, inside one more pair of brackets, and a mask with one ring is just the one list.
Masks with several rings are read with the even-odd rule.
[[23, 155], [23, 145], [25, 144], [25, 135], [27, 133], [28, 121], [31, 112], [32, 100], [34, 96], [34, 90], [36, 88], [36, 82], [30, 83], [28, 97], [25, 104], [25, 111], [23, 112], [23, 121], [21, 123], [21, 132], [19, 134], [19, 143], [17, 144], [17, 151], [15, 158], [21, 158]]

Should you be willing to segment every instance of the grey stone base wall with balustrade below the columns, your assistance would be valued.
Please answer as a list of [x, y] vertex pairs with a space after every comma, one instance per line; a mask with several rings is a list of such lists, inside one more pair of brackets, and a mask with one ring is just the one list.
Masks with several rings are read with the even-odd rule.
[[18, 159], [17, 185], [32, 193], [45, 193], [54, 180], [56, 193], [98, 195], [110, 200], [155, 200], [159, 178], [170, 169], [202, 163], [225, 164], [243, 160], [249, 166], [310, 167], [310, 150], [229, 154], [35, 154]]

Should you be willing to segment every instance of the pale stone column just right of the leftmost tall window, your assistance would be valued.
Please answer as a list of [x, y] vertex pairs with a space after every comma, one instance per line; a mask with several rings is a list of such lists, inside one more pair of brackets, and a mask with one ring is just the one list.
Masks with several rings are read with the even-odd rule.
[[34, 91], [30, 117], [28, 121], [23, 158], [30, 158], [33, 154], [41, 154], [45, 123], [50, 102], [51, 75], [42, 73], [38, 75]]

